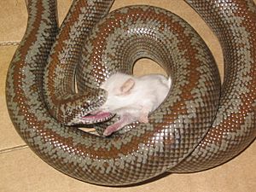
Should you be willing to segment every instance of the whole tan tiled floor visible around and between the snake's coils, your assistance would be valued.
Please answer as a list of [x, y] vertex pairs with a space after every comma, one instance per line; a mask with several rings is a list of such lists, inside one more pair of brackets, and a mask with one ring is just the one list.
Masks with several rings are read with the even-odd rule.
[[[0, 1], [0, 192], [15, 191], [164, 191], [164, 192], [255, 192], [256, 143], [223, 166], [207, 172], [172, 174], [154, 182], [129, 188], [108, 188], [83, 183], [40, 160], [26, 146], [9, 120], [5, 104], [4, 84], [9, 62], [26, 28], [26, 1]], [[256, 1], [254, 1], [256, 2]], [[71, 0], [59, 0], [60, 20], [66, 14]], [[223, 59], [217, 39], [205, 23], [182, 0], [116, 0], [113, 9], [128, 4], [147, 3], [170, 9], [188, 20], [209, 44], [223, 74]], [[136, 73], [148, 73], [155, 67], [143, 67], [141, 61]], [[147, 62], [147, 61], [146, 61]]]

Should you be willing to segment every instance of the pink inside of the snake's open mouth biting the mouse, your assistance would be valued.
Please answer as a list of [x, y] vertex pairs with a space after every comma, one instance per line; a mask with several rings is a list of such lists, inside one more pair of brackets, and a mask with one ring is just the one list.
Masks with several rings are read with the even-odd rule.
[[107, 121], [111, 118], [113, 118], [115, 114], [110, 112], [103, 112], [99, 111], [96, 113], [89, 113], [88, 115], [85, 115], [81, 119], [85, 121], [87, 124], [95, 124], [95, 123], [101, 123], [103, 121]]

